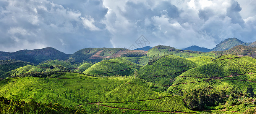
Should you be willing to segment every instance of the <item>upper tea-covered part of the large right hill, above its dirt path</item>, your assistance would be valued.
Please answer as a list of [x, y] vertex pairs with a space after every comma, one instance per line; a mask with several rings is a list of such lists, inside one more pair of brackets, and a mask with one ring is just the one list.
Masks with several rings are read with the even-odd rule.
[[251, 62], [248, 59], [253, 58], [242, 58], [235, 55], [224, 55], [212, 62], [203, 64], [196, 68], [192, 68], [180, 76], [212, 78], [255, 73], [256, 67], [254, 66], [256, 63]]

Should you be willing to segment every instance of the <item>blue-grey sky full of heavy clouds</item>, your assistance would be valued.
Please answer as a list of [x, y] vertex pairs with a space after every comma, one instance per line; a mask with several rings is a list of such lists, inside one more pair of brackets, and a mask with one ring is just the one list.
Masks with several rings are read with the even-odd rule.
[[256, 0], [0, 0], [0, 51], [256, 41]]

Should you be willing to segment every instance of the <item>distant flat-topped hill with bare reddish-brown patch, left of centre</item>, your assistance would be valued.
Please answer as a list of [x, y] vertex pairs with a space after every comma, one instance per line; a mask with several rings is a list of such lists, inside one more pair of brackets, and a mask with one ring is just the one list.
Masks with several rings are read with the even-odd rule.
[[127, 53], [146, 51], [141, 50], [128, 50], [124, 48], [84, 48], [72, 54], [70, 57], [75, 58], [76, 62], [92, 61], [100, 62], [102, 59], [120, 57]]

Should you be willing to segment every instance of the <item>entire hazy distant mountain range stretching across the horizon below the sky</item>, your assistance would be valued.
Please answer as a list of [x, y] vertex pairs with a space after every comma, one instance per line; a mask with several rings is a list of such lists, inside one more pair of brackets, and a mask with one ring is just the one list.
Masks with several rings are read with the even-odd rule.
[[[238, 46], [239, 45], [239, 46]], [[242, 46], [240, 46], [242, 45]], [[237, 46], [237, 47], [236, 47]], [[251, 47], [248, 47], [251, 46]], [[45, 60], [67, 60], [70, 59], [75, 63], [81, 63], [83, 61], [100, 62], [102, 59], [108, 59], [113, 57], [121, 57], [124, 54], [136, 52], [137, 54], [147, 55], [165, 55], [165, 54], [177, 54], [180, 52], [193, 53], [209, 52], [212, 51], [215, 54], [240, 54], [248, 55], [248, 53], [256, 53], [256, 42], [244, 43], [237, 38], [228, 38], [221, 43], [217, 44], [213, 49], [207, 49], [205, 47], [190, 46], [184, 49], [175, 49], [170, 46], [155, 46], [155, 47], [142, 47], [134, 50], [125, 48], [84, 48], [75, 52], [74, 54], [65, 54], [52, 47], [46, 47], [43, 49], [34, 50], [20, 50], [16, 52], [0, 52], [0, 60], [22, 60], [34, 64], [41, 63]], [[231, 49], [231, 50], [228, 50]], [[186, 51], [187, 50], [187, 51]], [[185, 55], [183, 55], [186, 57]], [[182, 57], [183, 57], [182, 56]], [[189, 56], [190, 57], [190, 56]]]

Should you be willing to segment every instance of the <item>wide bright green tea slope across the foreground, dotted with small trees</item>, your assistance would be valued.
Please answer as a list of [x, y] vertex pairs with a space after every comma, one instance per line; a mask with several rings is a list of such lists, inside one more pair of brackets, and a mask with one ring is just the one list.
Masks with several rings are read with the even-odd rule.
[[[8, 99], [24, 101], [34, 99], [43, 103], [60, 103], [63, 106], [99, 102], [100, 105], [128, 108], [122, 109], [122, 111], [137, 114], [151, 111], [194, 112], [185, 107], [181, 97], [155, 92], [139, 80], [117, 77], [96, 78], [77, 73], [66, 73], [58, 78], [6, 79], [0, 81], [0, 95]], [[128, 104], [122, 103], [122, 101]], [[105, 106], [103, 108], [115, 112], [120, 111], [120, 109]], [[162, 114], [163, 112], [154, 113]]]

